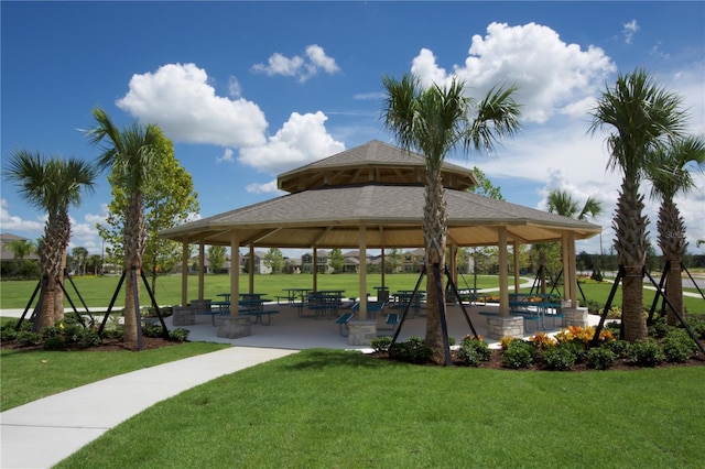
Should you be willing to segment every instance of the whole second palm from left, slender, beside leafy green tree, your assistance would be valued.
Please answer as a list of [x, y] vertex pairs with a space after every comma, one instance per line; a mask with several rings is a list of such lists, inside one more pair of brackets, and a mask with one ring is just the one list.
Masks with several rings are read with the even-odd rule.
[[102, 109], [94, 109], [93, 116], [97, 127], [88, 131], [90, 142], [96, 145], [106, 140], [108, 142], [101, 148], [98, 167], [111, 168], [128, 198], [123, 223], [124, 269], [128, 274], [133, 272], [135, 277], [128, 280], [124, 288], [123, 339], [135, 341], [138, 323], [134, 298], [139, 301], [140, 294], [140, 284], [135, 280], [141, 276], [145, 243], [143, 187], [158, 160], [153, 154], [160, 132], [156, 126], [138, 123], [119, 130]]

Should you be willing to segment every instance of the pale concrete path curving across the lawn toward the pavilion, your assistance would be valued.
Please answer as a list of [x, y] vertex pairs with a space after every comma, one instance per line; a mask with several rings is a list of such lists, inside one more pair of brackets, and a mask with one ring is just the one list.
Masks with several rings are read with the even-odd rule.
[[133, 371], [0, 414], [3, 469], [50, 468], [108, 429], [183, 391], [297, 350], [231, 347]]

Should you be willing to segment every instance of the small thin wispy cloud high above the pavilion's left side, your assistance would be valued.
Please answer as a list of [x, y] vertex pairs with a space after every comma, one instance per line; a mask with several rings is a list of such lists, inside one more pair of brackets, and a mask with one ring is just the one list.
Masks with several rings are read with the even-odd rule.
[[286, 57], [275, 52], [269, 57], [267, 64], [254, 64], [251, 70], [268, 76], [295, 77], [299, 81], [304, 83], [317, 75], [318, 72], [333, 75], [339, 72], [340, 68], [333, 57], [326, 55], [323, 47], [312, 44], [306, 47], [305, 57], [299, 55]]

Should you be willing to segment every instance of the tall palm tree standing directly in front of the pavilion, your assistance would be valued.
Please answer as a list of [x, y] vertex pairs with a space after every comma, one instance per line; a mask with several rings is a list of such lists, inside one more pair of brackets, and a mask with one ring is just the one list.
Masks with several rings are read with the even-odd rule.
[[[419, 77], [406, 74], [401, 80], [382, 79], [386, 89], [384, 127], [399, 145], [415, 151], [426, 160], [425, 208], [423, 233], [425, 243], [427, 318], [425, 342], [436, 351], [446, 348], [441, 325], [445, 304], [443, 284], [447, 238], [447, 214], [441, 168], [446, 155], [460, 148], [491, 151], [505, 135], [519, 130], [519, 106], [513, 100], [517, 87], [492, 88], [479, 102], [464, 96], [465, 83], [454, 78], [448, 86], [421, 86]], [[441, 279], [435, 279], [434, 266]], [[441, 297], [438, 297], [441, 296]]]

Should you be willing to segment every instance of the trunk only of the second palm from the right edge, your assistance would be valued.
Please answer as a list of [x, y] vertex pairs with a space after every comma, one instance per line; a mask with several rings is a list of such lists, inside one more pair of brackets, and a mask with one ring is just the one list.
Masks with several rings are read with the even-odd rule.
[[646, 340], [647, 320], [643, 312], [643, 265], [647, 257], [648, 219], [642, 215], [643, 196], [638, 183], [625, 178], [617, 203], [614, 228], [617, 233], [615, 249], [625, 268], [622, 280], [621, 320], [625, 340]]

